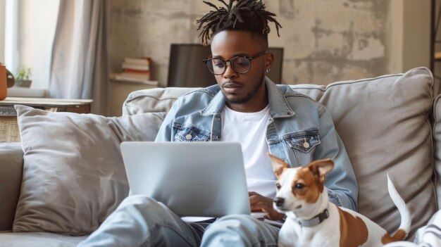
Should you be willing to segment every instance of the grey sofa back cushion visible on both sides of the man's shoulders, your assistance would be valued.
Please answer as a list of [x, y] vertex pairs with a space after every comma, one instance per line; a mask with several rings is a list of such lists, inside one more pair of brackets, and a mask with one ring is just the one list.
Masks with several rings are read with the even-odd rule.
[[[397, 229], [400, 217], [387, 193], [387, 172], [411, 210], [412, 234], [437, 208], [430, 180], [432, 86], [427, 68], [328, 86], [292, 85], [328, 107], [359, 182], [359, 212], [388, 232]], [[125, 101], [123, 114], [155, 112], [164, 118], [178, 96], [191, 90], [135, 91]]]

